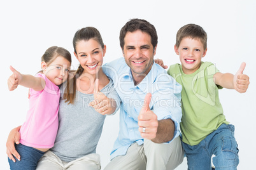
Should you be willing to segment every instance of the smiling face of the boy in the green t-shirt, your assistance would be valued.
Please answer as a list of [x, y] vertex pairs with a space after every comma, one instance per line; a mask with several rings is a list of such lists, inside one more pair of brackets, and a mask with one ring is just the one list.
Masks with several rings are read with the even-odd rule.
[[184, 37], [179, 47], [174, 46], [174, 50], [177, 55], [180, 55], [183, 72], [185, 74], [192, 74], [199, 69], [201, 60], [206, 55], [207, 48], [204, 49], [200, 39]]

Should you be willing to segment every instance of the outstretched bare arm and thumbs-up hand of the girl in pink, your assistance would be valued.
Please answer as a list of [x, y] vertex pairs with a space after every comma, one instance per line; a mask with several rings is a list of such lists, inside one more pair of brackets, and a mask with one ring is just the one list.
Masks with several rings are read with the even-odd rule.
[[8, 79], [8, 88], [10, 91], [16, 89], [18, 84], [26, 88], [32, 88], [35, 91], [41, 91], [45, 88], [45, 80], [43, 78], [20, 74], [20, 72], [13, 69], [11, 66], [10, 69], [13, 72], [13, 75]]

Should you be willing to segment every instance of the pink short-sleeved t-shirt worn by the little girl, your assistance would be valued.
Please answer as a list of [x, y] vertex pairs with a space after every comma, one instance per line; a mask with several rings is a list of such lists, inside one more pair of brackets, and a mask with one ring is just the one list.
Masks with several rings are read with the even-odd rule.
[[52, 148], [59, 126], [60, 89], [44, 74], [36, 76], [45, 79], [45, 89], [30, 89], [29, 111], [20, 128], [20, 143], [34, 148]]

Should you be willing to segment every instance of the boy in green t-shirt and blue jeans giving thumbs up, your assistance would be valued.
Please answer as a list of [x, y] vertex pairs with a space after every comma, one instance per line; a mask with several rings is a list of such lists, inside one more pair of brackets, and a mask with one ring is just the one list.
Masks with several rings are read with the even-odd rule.
[[236, 89], [245, 93], [249, 84], [243, 74], [245, 63], [236, 75], [222, 74], [210, 62], [201, 59], [207, 51], [207, 34], [202, 27], [188, 24], [176, 35], [175, 52], [180, 64], [169, 67], [168, 74], [182, 85], [182, 146], [188, 169], [236, 169], [239, 163], [234, 126], [225, 120], [218, 89]]

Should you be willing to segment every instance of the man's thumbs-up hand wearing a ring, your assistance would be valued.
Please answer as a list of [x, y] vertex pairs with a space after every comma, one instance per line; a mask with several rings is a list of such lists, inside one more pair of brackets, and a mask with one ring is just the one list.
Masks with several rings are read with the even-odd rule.
[[139, 132], [141, 137], [152, 140], [157, 136], [158, 120], [157, 115], [150, 110], [151, 93], [146, 94], [144, 105], [138, 116]]

